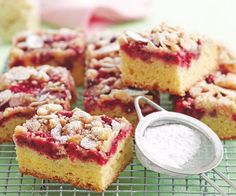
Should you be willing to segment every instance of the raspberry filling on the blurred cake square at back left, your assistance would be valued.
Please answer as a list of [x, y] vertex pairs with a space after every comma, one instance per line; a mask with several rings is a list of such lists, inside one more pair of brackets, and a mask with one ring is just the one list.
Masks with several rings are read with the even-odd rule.
[[[33, 35], [34, 36], [34, 35]], [[18, 56], [11, 60], [10, 66], [20, 66], [20, 65], [28, 65], [28, 61], [31, 62], [34, 66], [40, 66], [42, 64], [57, 64], [67, 69], [71, 70], [74, 66], [75, 62], [78, 62], [81, 59], [81, 64], [84, 62], [84, 46], [81, 46], [76, 43], [77, 38], [79, 36], [76, 34], [38, 34], [35, 35], [39, 37], [39, 40], [43, 42], [40, 48], [30, 48], [27, 44], [23, 44], [27, 42], [28, 37], [20, 37], [16, 46], [23, 50], [24, 52], [28, 52], [28, 57], [25, 61], [24, 58]], [[82, 38], [81, 38], [82, 39]], [[56, 49], [55, 51], [53, 49]], [[55, 61], [55, 55], [57, 55], [58, 49], [64, 51], [64, 58], [57, 59]], [[37, 54], [36, 54], [37, 53]]]

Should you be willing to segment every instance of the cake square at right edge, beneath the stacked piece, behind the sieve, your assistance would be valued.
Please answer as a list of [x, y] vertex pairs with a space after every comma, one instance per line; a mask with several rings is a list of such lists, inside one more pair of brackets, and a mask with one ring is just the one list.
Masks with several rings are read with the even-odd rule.
[[207, 124], [220, 139], [236, 139], [236, 63], [221, 64], [185, 96], [172, 96], [173, 108]]

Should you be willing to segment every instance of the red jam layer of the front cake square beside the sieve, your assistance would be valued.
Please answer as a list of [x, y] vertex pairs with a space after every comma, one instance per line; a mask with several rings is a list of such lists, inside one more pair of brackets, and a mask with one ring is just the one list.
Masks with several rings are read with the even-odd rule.
[[[69, 115], [66, 113], [66, 116]], [[107, 117], [107, 124], [111, 119]], [[61, 159], [69, 157], [72, 161], [79, 159], [84, 162], [94, 161], [99, 165], [105, 165], [111, 156], [115, 154], [118, 144], [121, 140], [132, 134], [133, 128], [121, 129], [118, 136], [113, 140], [111, 149], [107, 153], [98, 150], [85, 150], [76, 143], [58, 144], [49, 133], [28, 131], [15, 137], [15, 141], [19, 146], [27, 146], [42, 155], [46, 155], [52, 159]]]

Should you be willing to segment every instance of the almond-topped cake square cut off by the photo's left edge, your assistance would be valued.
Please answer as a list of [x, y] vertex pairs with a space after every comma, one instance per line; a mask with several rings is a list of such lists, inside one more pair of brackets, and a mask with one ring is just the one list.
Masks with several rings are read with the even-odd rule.
[[0, 143], [12, 141], [16, 125], [31, 118], [45, 103], [70, 109], [74, 81], [62, 67], [14, 67], [0, 76]]

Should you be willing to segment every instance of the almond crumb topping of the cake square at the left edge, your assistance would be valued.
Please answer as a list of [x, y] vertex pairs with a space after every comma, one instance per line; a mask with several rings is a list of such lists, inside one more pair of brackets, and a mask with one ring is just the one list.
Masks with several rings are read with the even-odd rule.
[[[51, 102], [66, 104], [72, 99], [68, 75], [65, 68], [49, 65], [10, 69], [0, 76], [0, 113], [6, 117], [17, 107], [37, 108]], [[41, 110], [43, 112], [43, 108]]]

